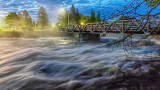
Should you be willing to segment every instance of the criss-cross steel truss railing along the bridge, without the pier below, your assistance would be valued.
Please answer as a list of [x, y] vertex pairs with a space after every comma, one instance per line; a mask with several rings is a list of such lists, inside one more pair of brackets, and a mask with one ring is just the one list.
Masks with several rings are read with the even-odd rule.
[[151, 20], [142, 22], [138, 20], [121, 20], [112, 23], [88, 23], [86, 25], [69, 25], [61, 28], [62, 31], [67, 32], [85, 32], [85, 33], [103, 33], [103, 32], [116, 32], [116, 33], [146, 33], [146, 32], [159, 32], [160, 22]]

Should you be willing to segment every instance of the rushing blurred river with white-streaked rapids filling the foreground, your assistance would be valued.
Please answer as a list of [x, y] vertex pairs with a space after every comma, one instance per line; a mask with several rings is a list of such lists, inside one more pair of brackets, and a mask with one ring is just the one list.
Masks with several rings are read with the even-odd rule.
[[0, 90], [160, 90], [160, 47], [142, 43], [0, 39]]

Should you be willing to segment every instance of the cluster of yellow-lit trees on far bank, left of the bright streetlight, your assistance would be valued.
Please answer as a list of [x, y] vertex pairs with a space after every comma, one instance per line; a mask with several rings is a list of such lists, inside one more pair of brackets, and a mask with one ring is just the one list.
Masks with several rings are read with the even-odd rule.
[[4, 22], [7, 28], [22, 28], [22, 29], [33, 29], [37, 28], [48, 28], [49, 17], [46, 13], [44, 7], [41, 7], [38, 13], [37, 22], [32, 20], [32, 17], [29, 15], [27, 10], [24, 10], [22, 13], [10, 12], [4, 18]]

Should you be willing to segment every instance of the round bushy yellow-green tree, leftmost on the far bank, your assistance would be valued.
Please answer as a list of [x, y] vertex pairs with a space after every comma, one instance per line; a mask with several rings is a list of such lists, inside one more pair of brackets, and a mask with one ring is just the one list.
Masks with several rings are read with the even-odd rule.
[[21, 17], [16, 12], [10, 12], [5, 18], [4, 22], [8, 27], [19, 27], [21, 26]]

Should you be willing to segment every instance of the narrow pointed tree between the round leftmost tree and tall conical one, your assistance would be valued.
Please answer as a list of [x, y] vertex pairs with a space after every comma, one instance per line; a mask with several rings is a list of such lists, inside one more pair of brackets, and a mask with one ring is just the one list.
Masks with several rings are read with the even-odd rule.
[[26, 10], [23, 11], [23, 27], [32, 27], [32, 18]]

